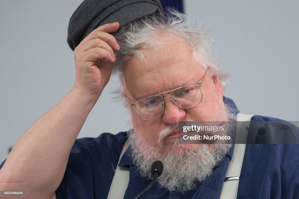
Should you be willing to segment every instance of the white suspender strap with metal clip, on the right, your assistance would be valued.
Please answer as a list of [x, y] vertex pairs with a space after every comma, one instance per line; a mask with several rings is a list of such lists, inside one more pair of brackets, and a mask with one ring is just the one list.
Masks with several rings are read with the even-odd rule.
[[[236, 143], [246, 143], [248, 134], [248, 132], [246, 131], [246, 127], [249, 127], [252, 116], [253, 115], [245, 115], [242, 113], [238, 113]], [[228, 169], [222, 185], [220, 199], [237, 198], [239, 176], [242, 169], [245, 148], [246, 144], [235, 144], [234, 146], [233, 157], [228, 165]]]

